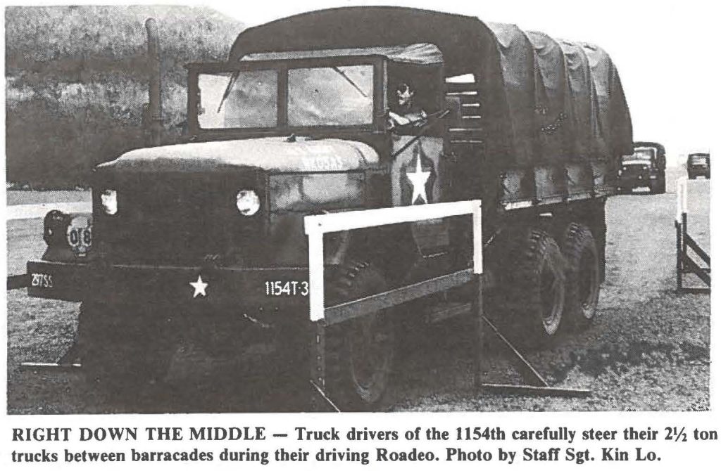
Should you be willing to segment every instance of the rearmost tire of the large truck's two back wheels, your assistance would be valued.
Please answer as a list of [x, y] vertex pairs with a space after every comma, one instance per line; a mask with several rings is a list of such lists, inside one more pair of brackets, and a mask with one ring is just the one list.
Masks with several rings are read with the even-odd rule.
[[596, 239], [585, 225], [570, 223], [562, 244], [566, 259], [565, 325], [586, 328], [596, 317], [601, 290]]

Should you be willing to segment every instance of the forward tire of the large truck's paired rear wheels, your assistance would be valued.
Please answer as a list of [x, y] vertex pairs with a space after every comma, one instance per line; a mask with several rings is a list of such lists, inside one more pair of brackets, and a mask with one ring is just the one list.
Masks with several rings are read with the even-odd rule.
[[511, 338], [523, 346], [549, 343], [559, 332], [565, 305], [565, 260], [553, 238], [531, 229], [518, 241], [510, 281]]

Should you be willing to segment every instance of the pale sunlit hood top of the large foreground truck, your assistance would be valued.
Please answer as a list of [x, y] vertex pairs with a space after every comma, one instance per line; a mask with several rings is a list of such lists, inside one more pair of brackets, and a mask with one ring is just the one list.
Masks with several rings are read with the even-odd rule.
[[349, 171], [376, 166], [370, 145], [353, 140], [288, 138], [162, 145], [124, 153], [97, 169], [118, 172], [208, 172], [253, 167], [266, 171]]

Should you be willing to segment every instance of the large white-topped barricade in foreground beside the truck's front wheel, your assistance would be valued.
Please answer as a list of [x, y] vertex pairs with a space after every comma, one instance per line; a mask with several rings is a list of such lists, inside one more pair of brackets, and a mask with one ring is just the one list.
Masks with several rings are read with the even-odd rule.
[[[323, 235], [345, 230], [375, 228], [382, 225], [415, 223], [452, 216], [472, 216], [473, 228], [473, 266], [459, 272], [426, 279], [408, 286], [369, 295], [358, 300], [350, 300], [340, 305], [327, 307], [324, 293]], [[481, 200], [432, 203], [428, 205], [389, 207], [375, 210], [334, 212], [323, 215], [311, 215], [304, 218], [305, 233], [308, 236], [309, 267], [309, 315], [313, 324], [311, 342], [311, 387], [315, 390], [312, 398], [324, 398], [327, 405], [336, 411], [333, 398], [327, 396], [325, 377], [325, 334], [326, 328], [346, 322], [378, 310], [391, 308], [420, 297], [444, 292], [452, 287], [475, 282], [477, 297], [474, 300], [478, 341], [475, 359], [480, 362], [483, 349], [483, 302], [482, 302], [482, 226]], [[477, 370], [480, 366], [477, 368]], [[317, 402], [315, 405], [318, 405]]]

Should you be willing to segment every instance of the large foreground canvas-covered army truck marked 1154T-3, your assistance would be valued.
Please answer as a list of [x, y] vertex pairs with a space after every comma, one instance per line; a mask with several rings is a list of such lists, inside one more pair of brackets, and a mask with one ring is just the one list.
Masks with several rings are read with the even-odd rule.
[[[162, 379], [181, 339], [231, 355], [274, 342], [269, 372], [306, 372], [303, 221], [328, 212], [482, 199], [484, 295], [504, 331], [541, 344], [593, 320], [606, 198], [632, 152], [601, 48], [349, 7], [249, 28], [227, 60], [187, 71], [187, 143], [97, 166], [92, 215], [50, 212], [47, 251], [27, 264], [31, 296], [82, 303], [97, 384]], [[399, 125], [403, 84], [420, 119]], [[327, 235], [327, 304], [465, 269], [470, 233], [451, 217]], [[407, 329], [468, 313], [470, 298], [454, 288], [329, 329], [330, 397], [377, 405]]]

